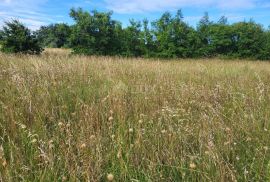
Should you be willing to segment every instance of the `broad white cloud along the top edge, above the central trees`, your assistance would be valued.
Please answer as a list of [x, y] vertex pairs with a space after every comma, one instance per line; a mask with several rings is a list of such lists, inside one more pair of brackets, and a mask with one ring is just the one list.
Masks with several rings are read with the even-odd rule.
[[117, 13], [174, 10], [185, 7], [218, 9], [254, 8], [260, 0], [105, 0], [107, 8]]

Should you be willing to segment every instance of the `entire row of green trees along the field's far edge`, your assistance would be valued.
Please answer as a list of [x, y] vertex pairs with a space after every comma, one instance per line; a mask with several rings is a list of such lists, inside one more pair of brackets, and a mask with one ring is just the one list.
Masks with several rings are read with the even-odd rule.
[[149, 22], [130, 20], [127, 27], [112, 19], [112, 12], [71, 9], [73, 25], [42, 26], [31, 32], [19, 21], [0, 31], [3, 52], [39, 54], [44, 47], [71, 48], [74, 54], [157, 58], [270, 59], [270, 30], [252, 20], [229, 24], [208, 13], [196, 27], [184, 21], [181, 10], [165, 12]]

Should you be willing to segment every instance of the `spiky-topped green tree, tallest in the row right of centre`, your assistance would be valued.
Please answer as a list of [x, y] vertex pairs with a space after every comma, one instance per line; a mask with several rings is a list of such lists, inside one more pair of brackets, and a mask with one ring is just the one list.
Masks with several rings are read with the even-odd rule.
[[155, 36], [158, 44], [158, 56], [167, 58], [192, 57], [197, 47], [194, 29], [183, 21], [181, 10], [175, 17], [169, 12], [164, 13], [154, 22]]

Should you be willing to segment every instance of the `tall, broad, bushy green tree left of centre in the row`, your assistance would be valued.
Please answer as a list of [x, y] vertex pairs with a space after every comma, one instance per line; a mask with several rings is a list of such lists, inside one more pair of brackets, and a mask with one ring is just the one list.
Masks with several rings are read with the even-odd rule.
[[119, 52], [112, 45], [119, 37], [120, 23], [111, 19], [112, 12], [91, 13], [71, 9], [70, 16], [76, 24], [72, 28], [71, 47], [75, 53], [113, 55]]

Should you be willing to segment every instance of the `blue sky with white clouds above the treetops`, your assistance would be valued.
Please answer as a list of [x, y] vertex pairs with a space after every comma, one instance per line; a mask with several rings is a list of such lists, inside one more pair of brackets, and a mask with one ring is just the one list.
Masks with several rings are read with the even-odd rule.
[[66, 22], [72, 7], [114, 12], [113, 18], [126, 26], [129, 19], [155, 20], [165, 11], [182, 9], [192, 26], [209, 12], [212, 20], [226, 16], [230, 23], [252, 18], [267, 28], [270, 25], [270, 0], [0, 0], [0, 26], [5, 20], [19, 19], [32, 30], [41, 25]]

